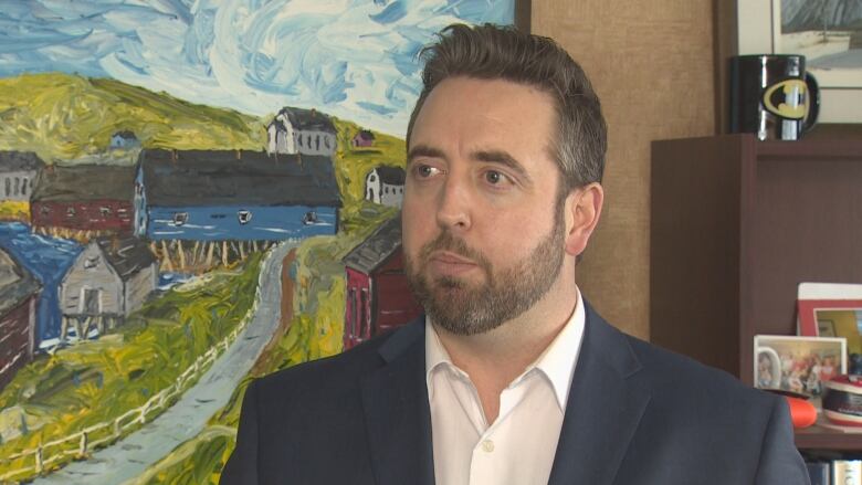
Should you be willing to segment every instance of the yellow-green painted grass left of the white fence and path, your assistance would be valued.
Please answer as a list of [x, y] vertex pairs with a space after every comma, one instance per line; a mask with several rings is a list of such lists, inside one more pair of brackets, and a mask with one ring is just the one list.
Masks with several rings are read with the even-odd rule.
[[[11, 456], [40, 443], [111, 421], [144, 404], [228, 335], [251, 308], [260, 253], [243, 265], [169, 291], [98, 340], [42, 356], [0, 393], [0, 444]], [[32, 462], [32, 458], [30, 458]], [[0, 475], [22, 466], [0, 462]]]

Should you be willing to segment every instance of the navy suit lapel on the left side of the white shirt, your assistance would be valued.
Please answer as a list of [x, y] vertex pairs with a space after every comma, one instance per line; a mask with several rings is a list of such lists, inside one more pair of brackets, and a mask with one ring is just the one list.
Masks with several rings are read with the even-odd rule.
[[385, 365], [361, 383], [377, 483], [433, 485], [424, 319], [392, 335], [379, 352]]

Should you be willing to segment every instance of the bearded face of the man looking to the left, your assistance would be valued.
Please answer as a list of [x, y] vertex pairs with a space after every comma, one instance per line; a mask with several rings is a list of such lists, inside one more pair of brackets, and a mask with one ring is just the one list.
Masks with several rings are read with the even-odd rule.
[[407, 275], [431, 319], [491, 330], [536, 304], [564, 259], [550, 96], [453, 77], [417, 117], [403, 200]]

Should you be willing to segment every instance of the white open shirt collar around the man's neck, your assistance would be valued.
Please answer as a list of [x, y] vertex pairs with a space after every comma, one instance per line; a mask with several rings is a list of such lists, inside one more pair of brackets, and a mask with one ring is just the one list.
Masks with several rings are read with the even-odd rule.
[[[527, 366], [524, 373], [514, 381], [517, 382], [533, 369], [540, 370], [550, 381], [554, 393], [557, 397], [557, 403], [561, 410], [566, 409], [566, 403], [568, 402], [571, 379], [575, 375], [578, 354], [580, 354], [580, 344], [584, 339], [584, 326], [587, 318], [584, 310], [584, 299], [580, 296], [580, 291], [577, 292], [578, 298], [575, 312], [569, 317], [569, 320], [538, 359]], [[441, 367], [454, 370], [460, 375], [463, 373], [461, 369], [452, 363], [449, 352], [440, 341], [433, 325], [431, 325], [431, 319], [425, 317], [425, 384], [429, 399], [433, 399], [434, 391], [431, 376]]]

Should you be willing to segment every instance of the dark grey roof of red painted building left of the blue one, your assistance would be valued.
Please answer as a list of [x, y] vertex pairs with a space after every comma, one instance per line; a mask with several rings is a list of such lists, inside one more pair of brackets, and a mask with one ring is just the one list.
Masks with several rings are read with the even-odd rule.
[[33, 188], [33, 201], [132, 201], [135, 167], [109, 165], [54, 166], [42, 170]]

